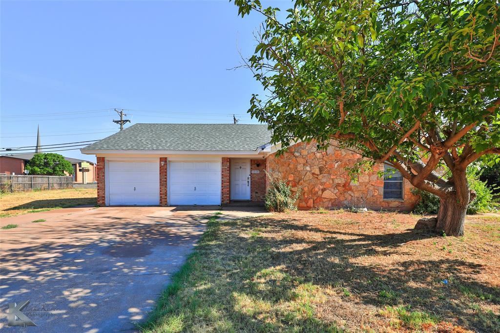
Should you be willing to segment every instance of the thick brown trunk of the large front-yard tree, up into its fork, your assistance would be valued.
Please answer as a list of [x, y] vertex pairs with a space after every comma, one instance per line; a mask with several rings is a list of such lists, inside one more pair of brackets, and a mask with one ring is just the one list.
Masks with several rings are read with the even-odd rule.
[[465, 214], [475, 192], [468, 187], [465, 170], [452, 171], [455, 190], [440, 198], [437, 212], [436, 232], [445, 232], [448, 236], [463, 236]]

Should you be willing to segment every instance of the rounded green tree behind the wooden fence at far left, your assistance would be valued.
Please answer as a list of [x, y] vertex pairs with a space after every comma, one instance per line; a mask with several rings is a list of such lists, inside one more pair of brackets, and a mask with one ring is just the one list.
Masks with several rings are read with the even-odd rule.
[[71, 163], [61, 154], [53, 152], [34, 154], [24, 168], [29, 174], [64, 175], [64, 171], [73, 174]]

